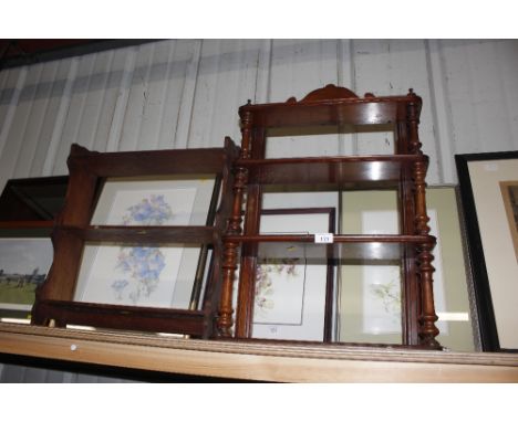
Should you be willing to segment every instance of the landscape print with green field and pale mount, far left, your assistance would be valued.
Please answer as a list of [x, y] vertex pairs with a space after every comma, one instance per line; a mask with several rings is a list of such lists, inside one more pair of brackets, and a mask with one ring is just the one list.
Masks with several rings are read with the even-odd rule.
[[50, 239], [0, 239], [0, 308], [30, 308], [52, 257]]

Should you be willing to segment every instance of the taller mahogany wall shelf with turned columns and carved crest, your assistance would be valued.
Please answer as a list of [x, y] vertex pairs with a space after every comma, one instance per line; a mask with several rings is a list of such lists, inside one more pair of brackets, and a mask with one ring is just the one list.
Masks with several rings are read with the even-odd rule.
[[[421, 150], [418, 117], [422, 99], [410, 91], [404, 96], [358, 97], [351, 91], [328, 85], [302, 101], [252, 105], [239, 108], [241, 151], [235, 163], [234, 209], [224, 238], [224, 286], [219, 331], [224, 337], [252, 338], [256, 268], [260, 245], [303, 243], [305, 253], [322, 251], [329, 259], [397, 259], [402, 267], [403, 345], [441, 348], [435, 337], [432, 250], [425, 201], [428, 158]], [[268, 130], [272, 128], [343, 125], [392, 125], [393, 155], [266, 158]], [[318, 141], [318, 138], [315, 138]], [[262, 193], [269, 186], [324, 186], [346, 189], [396, 189], [400, 233], [395, 235], [334, 234], [331, 245], [314, 244], [312, 234], [260, 234]], [[241, 207], [245, 205], [242, 218]], [[309, 247], [309, 245], [311, 245]], [[311, 253], [311, 252], [309, 252]], [[232, 319], [232, 288], [239, 263], [239, 293]], [[330, 307], [328, 297], [327, 307]], [[232, 327], [235, 324], [235, 333]], [[325, 325], [323, 341], [330, 341]]]

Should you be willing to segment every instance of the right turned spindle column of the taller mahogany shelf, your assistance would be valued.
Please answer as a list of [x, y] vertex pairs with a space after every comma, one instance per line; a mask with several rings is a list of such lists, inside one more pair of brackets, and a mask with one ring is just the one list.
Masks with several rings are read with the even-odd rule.
[[[421, 141], [418, 138], [418, 97], [411, 89], [410, 97], [415, 97], [415, 102], [408, 103], [408, 135], [411, 154], [423, 156], [421, 150]], [[415, 234], [429, 235], [428, 221], [429, 218], [426, 212], [426, 170], [427, 162], [418, 160], [413, 166], [413, 179], [415, 188]], [[434, 306], [434, 287], [433, 287], [433, 273], [435, 271], [432, 265], [434, 255], [432, 250], [435, 246], [435, 239], [429, 236], [429, 242], [424, 242], [417, 245], [417, 279], [421, 285], [421, 315], [419, 315], [419, 342], [429, 348], [441, 348], [435, 337], [439, 334], [435, 321], [438, 319], [435, 314]]]

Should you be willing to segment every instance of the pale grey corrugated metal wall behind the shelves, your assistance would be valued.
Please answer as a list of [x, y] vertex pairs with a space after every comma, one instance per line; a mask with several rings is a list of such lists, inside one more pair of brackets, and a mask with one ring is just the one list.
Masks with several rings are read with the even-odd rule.
[[[176, 40], [0, 72], [0, 187], [66, 173], [72, 143], [99, 151], [221, 146], [237, 109], [325, 84], [423, 97], [428, 183], [456, 182], [455, 154], [518, 149], [518, 41]], [[386, 134], [329, 136], [298, 155], [388, 151]], [[283, 139], [269, 150], [291, 155]], [[0, 366], [0, 380], [80, 380]], [[31, 373], [29, 377], [28, 373]], [[61, 377], [61, 378], [60, 378]]]

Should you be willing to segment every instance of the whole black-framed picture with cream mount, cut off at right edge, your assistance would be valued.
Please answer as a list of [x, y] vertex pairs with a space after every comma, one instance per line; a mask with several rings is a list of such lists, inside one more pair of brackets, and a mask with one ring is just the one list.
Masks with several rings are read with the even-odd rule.
[[455, 156], [485, 351], [518, 351], [518, 151]]

